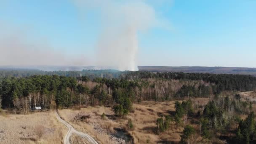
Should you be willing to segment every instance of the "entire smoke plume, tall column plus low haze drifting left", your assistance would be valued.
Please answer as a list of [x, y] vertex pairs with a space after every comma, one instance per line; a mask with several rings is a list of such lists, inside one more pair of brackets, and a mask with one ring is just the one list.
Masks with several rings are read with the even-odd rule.
[[53, 48], [47, 38], [31, 34], [30, 27], [13, 27], [0, 19], [0, 66], [39, 69], [41, 66], [44, 69], [47, 66], [96, 66], [93, 69], [138, 70], [138, 32], [163, 24], [148, 1], [71, 1], [78, 11], [92, 10], [100, 18], [100, 34], [93, 48], [95, 58], [89, 58], [88, 53], [81, 55], [81, 51], [67, 54], [63, 48]]

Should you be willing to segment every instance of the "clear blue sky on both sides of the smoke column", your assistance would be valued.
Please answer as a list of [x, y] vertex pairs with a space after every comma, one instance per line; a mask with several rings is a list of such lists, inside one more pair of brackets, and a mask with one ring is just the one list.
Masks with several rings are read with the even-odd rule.
[[[164, 26], [137, 31], [138, 65], [256, 67], [256, 0], [141, 1]], [[96, 61], [104, 25], [99, 9], [74, 0], [0, 0], [0, 23], [30, 42], [83, 55], [84, 65]]]

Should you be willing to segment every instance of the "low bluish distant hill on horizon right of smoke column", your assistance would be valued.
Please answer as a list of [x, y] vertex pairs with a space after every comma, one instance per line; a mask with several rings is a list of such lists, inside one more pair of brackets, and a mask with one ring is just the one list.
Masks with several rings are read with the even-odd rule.
[[213, 74], [243, 74], [256, 75], [256, 68], [246, 67], [168, 67], [168, 66], [139, 66], [139, 71], [148, 72], [194, 72]]

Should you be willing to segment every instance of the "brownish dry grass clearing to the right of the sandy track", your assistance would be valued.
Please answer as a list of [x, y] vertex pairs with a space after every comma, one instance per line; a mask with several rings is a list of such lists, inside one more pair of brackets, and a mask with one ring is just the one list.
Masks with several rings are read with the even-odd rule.
[[[200, 105], [208, 103], [207, 98], [193, 99]], [[61, 109], [59, 114], [64, 120], [68, 121], [79, 131], [86, 132], [100, 141], [102, 144], [122, 144], [124, 141], [117, 139], [112, 133], [115, 128], [125, 129], [134, 139], [135, 144], [156, 144], [169, 142], [179, 142], [182, 127], [176, 127], [172, 122], [171, 128], [160, 134], [156, 134], [156, 120], [160, 115], [173, 115], [175, 101], [154, 102], [144, 101], [141, 104], [133, 104], [134, 112], [127, 116], [118, 118], [114, 116], [111, 107], [87, 107], [81, 109]], [[106, 117], [102, 119], [101, 115], [105, 113]], [[76, 115], [90, 115], [90, 118], [80, 121], [74, 120]], [[133, 122], [133, 128], [127, 126], [128, 120]], [[188, 121], [189, 123], [189, 121]], [[75, 138], [73, 138], [75, 139]], [[75, 139], [74, 141], [80, 141]], [[79, 143], [79, 142], [78, 142]]]

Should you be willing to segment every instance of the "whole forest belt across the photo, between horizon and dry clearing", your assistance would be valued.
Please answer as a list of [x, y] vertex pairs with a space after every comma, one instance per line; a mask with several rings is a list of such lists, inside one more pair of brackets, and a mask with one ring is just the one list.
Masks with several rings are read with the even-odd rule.
[[2, 106], [15, 107], [20, 112], [36, 106], [116, 105], [120, 115], [126, 114], [131, 102], [135, 101], [165, 101], [185, 96], [208, 97], [223, 91], [256, 90], [256, 77], [249, 75], [115, 70], [83, 70], [80, 74], [25, 70], [0, 73]]

